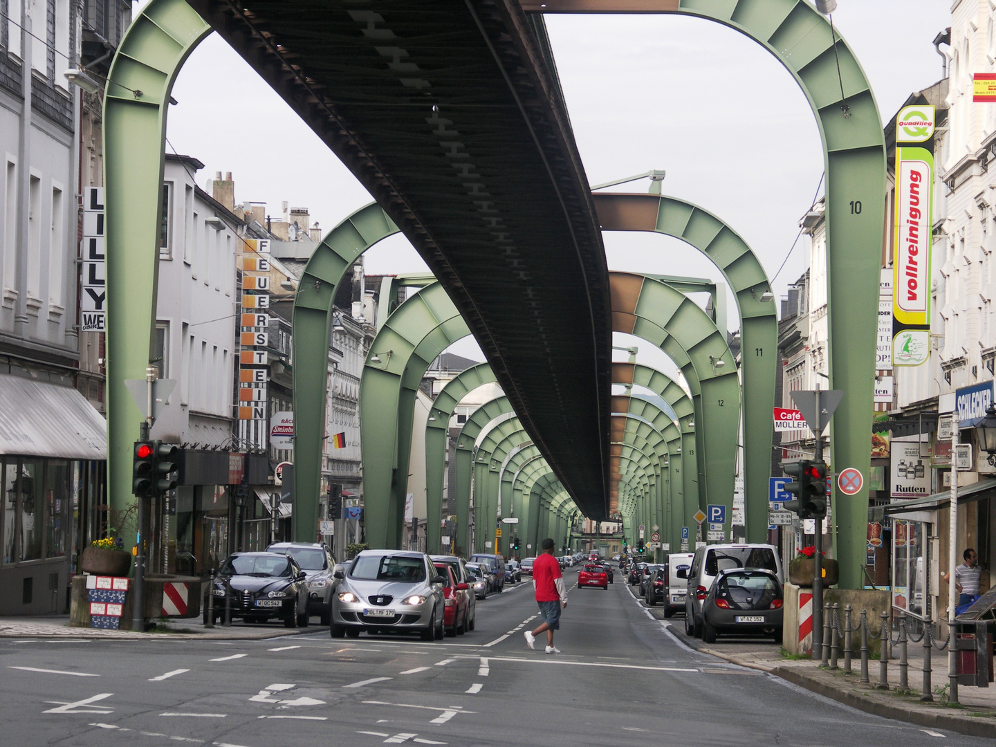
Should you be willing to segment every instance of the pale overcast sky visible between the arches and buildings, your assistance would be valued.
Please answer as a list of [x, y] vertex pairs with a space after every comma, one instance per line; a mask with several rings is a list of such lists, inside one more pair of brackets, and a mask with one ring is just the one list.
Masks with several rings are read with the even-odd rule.
[[[883, 121], [910, 93], [941, 78], [931, 41], [950, 25], [949, 0], [838, 4], [835, 25], [870, 79]], [[589, 182], [666, 170], [664, 193], [721, 217], [773, 277], [823, 173], [813, 113], [789, 73], [747, 37], [695, 18], [548, 16], [547, 25]], [[202, 160], [202, 186], [215, 171], [231, 171], [237, 202], [266, 202], [279, 216], [287, 200], [292, 208], [309, 208], [323, 231], [371, 201], [217, 36], [190, 56], [173, 97], [178, 104], [169, 111], [167, 151], [171, 146]], [[647, 186], [642, 180], [616, 189]], [[722, 280], [675, 240], [607, 233], [605, 244], [610, 269]], [[808, 257], [803, 237], [774, 281], [776, 296], [805, 271]], [[368, 273], [424, 269], [400, 236], [368, 253]], [[734, 312], [730, 327], [737, 326]], [[481, 360], [472, 350], [455, 352]]]

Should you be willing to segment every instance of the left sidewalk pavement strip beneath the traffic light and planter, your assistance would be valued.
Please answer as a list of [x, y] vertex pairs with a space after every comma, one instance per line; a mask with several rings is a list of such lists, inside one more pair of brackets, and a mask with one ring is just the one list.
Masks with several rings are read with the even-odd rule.
[[[317, 618], [315, 620], [318, 620]], [[199, 640], [262, 640], [284, 635], [315, 632], [317, 626], [284, 627], [283, 623], [251, 623], [235, 621], [230, 627], [217, 624], [205, 627], [200, 618], [159, 621], [149, 632], [106, 630], [70, 625], [68, 615], [47, 615], [37, 618], [0, 618], [0, 637], [4, 638], [112, 638], [119, 640], [186, 638]]]

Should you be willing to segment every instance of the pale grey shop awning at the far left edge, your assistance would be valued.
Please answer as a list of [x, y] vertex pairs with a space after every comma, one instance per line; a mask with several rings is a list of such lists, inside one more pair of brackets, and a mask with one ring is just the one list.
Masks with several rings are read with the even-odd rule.
[[0, 375], [0, 454], [107, 459], [108, 424], [71, 386]]

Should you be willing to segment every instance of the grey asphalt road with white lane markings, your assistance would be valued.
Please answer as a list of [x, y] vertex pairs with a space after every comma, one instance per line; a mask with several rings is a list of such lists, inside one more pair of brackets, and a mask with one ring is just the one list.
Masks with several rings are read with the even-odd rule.
[[619, 582], [571, 591], [561, 654], [527, 648], [536, 615], [526, 583], [478, 603], [476, 630], [434, 642], [319, 628], [247, 641], [5, 639], [0, 744], [996, 744], [694, 651]]

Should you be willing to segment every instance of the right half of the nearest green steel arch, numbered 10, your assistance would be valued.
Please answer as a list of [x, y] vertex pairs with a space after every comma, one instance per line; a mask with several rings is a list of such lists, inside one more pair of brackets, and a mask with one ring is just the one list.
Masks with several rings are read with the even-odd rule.
[[[871, 469], [876, 280], [885, 222], [885, 148], [871, 85], [848, 44], [804, 0], [524, 0], [543, 13], [680, 13], [721, 23], [762, 45], [809, 101], [826, 173], [830, 385], [846, 393], [832, 420], [832, 464]], [[861, 202], [857, 213], [849, 205]], [[864, 586], [868, 490], [835, 491], [841, 587]], [[750, 518], [747, 519], [750, 522]], [[750, 530], [748, 530], [750, 531]]]

